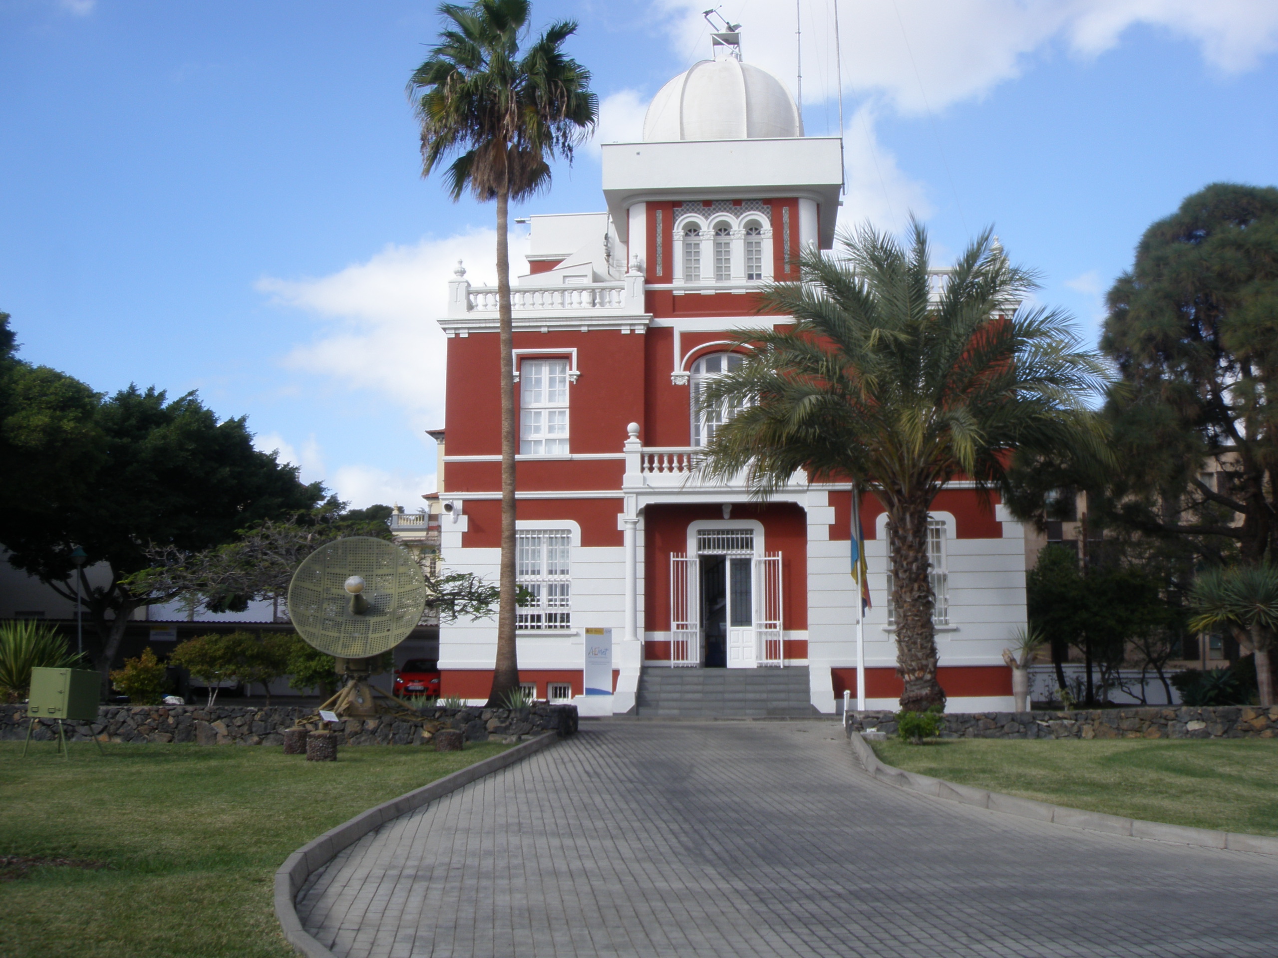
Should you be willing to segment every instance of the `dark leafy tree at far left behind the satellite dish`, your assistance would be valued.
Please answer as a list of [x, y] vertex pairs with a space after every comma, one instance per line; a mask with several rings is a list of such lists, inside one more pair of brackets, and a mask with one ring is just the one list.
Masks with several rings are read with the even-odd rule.
[[[8, 333], [8, 323], [3, 327]], [[4, 345], [0, 338], [0, 346]], [[72, 552], [88, 553], [82, 604], [98, 635], [104, 682], [142, 605], [176, 593], [124, 580], [152, 565], [153, 544], [208, 549], [256, 521], [323, 499], [295, 466], [253, 448], [244, 418], [219, 422], [196, 393], [169, 400], [130, 386], [102, 399], [83, 383], [9, 353], [0, 363], [0, 543], [9, 562], [74, 602]], [[87, 570], [105, 563], [110, 581]]]

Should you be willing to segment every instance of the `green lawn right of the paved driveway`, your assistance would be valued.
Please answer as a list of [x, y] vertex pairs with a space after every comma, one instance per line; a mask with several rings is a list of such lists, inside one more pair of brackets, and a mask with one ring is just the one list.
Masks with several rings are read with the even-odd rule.
[[1278, 835], [1278, 740], [873, 742], [907, 772], [1149, 821]]

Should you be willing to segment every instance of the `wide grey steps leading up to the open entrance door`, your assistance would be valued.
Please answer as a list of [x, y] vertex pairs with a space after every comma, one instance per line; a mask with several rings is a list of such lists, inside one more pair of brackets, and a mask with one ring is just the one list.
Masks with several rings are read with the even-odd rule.
[[808, 668], [662, 668], [639, 676], [635, 714], [651, 718], [810, 718]]

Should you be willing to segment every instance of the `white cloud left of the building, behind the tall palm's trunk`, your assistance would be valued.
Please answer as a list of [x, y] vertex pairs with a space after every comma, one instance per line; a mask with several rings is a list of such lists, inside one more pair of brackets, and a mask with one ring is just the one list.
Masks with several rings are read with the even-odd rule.
[[[518, 238], [512, 240], [518, 247]], [[466, 264], [472, 285], [493, 281], [496, 243], [493, 230], [472, 230], [412, 247], [389, 245], [328, 276], [263, 277], [257, 289], [275, 304], [325, 321], [318, 337], [295, 347], [285, 365], [381, 393], [422, 428], [437, 425], [443, 416], [445, 336], [436, 319], [447, 309], [458, 259]], [[521, 272], [518, 253], [512, 258], [511, 272]]]

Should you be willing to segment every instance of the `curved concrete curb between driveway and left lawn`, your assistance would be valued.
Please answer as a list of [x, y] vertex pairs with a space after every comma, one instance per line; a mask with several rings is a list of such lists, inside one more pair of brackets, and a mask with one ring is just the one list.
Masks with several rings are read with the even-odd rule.
[[372, 809], [359, 812], [355, 817], [348, 819], [298, 848], [298, 851], [284, 860], [284, 865], [275, 872], [275, 917], [280, 922], [280, 927], [284, 930], [284, 936], [289, 944], [307, 958], [336, 958], [331, 950], [320, 944], [320, 941], [302, 927], [302, 920], [298, 917], [296, 894], [302, 890], [307, 879], [327, 865], [339, 852], [353, 846], [369, 832], [377, 830], [386, 823], [415, 811], [423, 805], [433, 802], [436, 798], [442, 798], [450, 792], [455, 792], [484, 775], [498, 772], [507, 765], [514, 765], [516, 761], [557, 741], [557, 734], [544, 732], [532, 741], [521, 742], [514, 749], [507, 749], [501, 755], [483, 759], [474, 765], [468, 765], [464, 769], [454, 772], [451, 775], [445, 775], [428, 786], [414, 788], [412, 792], [406, 792], [397, 798], [374, 805]]

